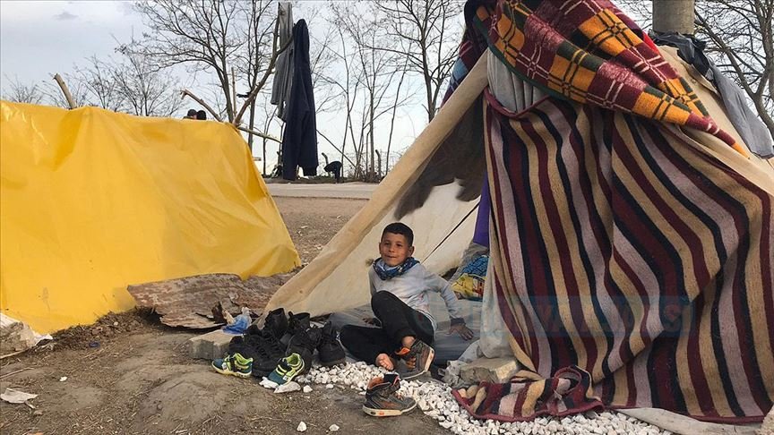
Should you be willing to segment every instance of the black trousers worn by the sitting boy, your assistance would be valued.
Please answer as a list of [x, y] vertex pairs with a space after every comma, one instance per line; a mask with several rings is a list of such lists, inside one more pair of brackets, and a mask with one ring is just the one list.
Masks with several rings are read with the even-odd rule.
[[433, 345], [433, 324], [427, 316], [414, 310], [390, 292], [377, 292], [371, 297], [371, 310], [382, 328], [345, 325], [341, 328], [341, 345], [357, 359], [373, 364], [378, 354], [395, 354], [403, 337], [415, 337]]

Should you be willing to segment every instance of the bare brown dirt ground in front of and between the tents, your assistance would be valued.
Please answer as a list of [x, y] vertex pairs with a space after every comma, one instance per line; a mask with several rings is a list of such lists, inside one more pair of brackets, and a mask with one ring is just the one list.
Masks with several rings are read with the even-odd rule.
[[[306, 264], [364, 200], [276, 198]], [[353, 390], [315, 386], [274, 395], [254, 380], [219, 375], [188, 357], [196, 334], [161, 325], [149, 311], [111, 314], [71, 328], [53, 345], [0, 361], [0, 390], [37, 394], [27, 405], [0, 402], [0, 433], [445, 433], [421, 412], [387, 420], [360, 410]], [[66, 377], [66, 379], [65, 379]]]

